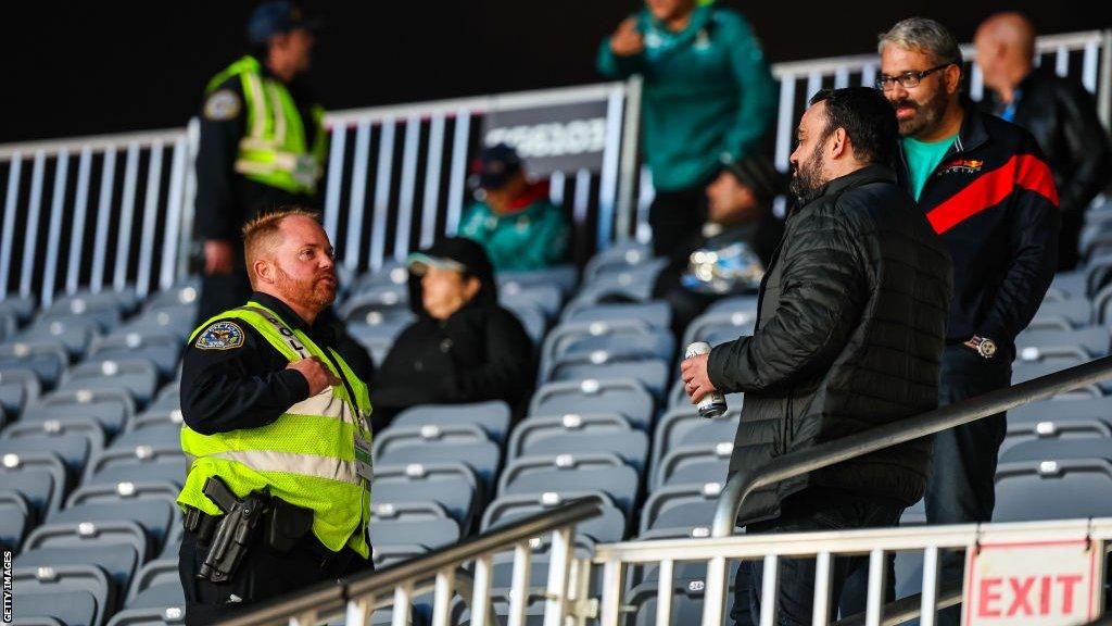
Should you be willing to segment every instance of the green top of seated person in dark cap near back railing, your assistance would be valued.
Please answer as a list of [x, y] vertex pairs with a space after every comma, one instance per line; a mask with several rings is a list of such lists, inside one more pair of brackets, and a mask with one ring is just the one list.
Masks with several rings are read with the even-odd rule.
[[567, 219], [543, 197], [504, 215], [475, 202], [464, 212], [459, 236], [481, 244], [498, 272], [544, 270], [567, 258]]

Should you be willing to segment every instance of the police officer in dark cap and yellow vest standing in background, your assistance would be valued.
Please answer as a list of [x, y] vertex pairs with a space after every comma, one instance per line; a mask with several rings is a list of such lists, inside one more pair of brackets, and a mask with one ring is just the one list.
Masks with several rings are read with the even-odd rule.
[[251, 14], [251, 53], [209, 81], [197, 154], [197, 235], [203, 241], [198, 321], [250, 293], [239, 229], [264, 208], [312, 206], [324, 167], [324, 109], [296, 79], [309, 69], [315, 22], [288, 1]]

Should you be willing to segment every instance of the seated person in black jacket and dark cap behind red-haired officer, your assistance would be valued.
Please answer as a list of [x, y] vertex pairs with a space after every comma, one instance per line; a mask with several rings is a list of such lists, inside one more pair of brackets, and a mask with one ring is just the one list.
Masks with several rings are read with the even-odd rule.
[[533, 342], [498, 306], [490, 261], [477, 243], [450, 237], [409, 256], [417, 321], [394, 342], [376, 384], [373, 426], [403, 409], [505, 400], [523, 414], [536, 378]]

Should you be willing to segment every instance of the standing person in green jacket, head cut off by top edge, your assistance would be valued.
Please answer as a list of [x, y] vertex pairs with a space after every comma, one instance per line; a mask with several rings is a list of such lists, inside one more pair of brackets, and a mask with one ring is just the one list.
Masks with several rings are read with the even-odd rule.
[[702, 0], [646, 0], [603, 41], [598, 70], [644, 78], [653, 252], [667, 254], [706, 221], [704, 189], [722, 160], [757, 153], [776, 110], [768, 62], [736, 11]]

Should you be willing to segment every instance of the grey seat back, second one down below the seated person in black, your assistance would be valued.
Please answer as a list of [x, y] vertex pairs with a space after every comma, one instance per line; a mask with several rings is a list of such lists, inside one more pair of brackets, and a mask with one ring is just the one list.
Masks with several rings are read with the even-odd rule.
[[497, 443], [481, 428], [423, 426], [391, 428], [375, 438], [375, 461], [383, 464], [461, 462], [486, 486], [494, 483], [502, 460]]

